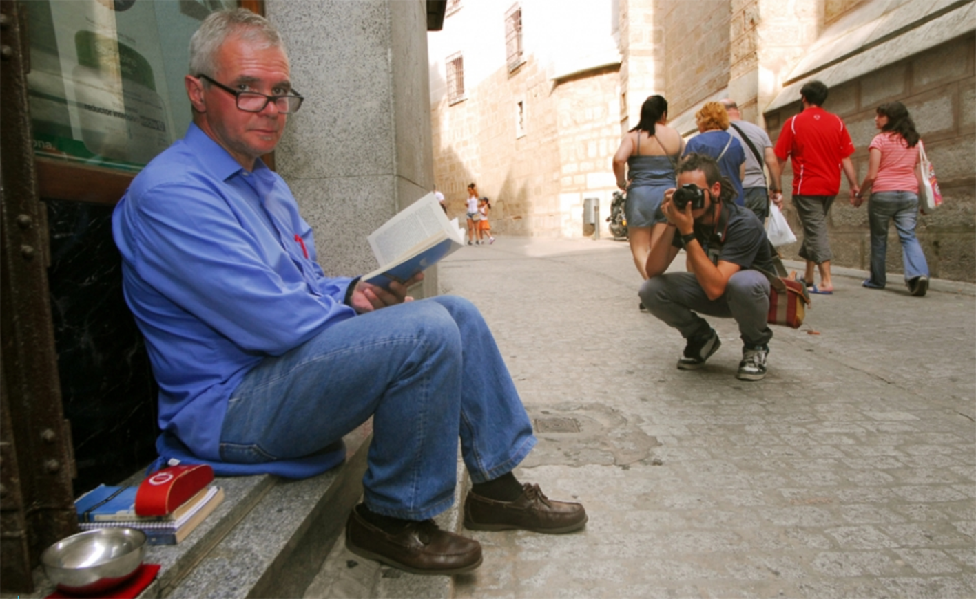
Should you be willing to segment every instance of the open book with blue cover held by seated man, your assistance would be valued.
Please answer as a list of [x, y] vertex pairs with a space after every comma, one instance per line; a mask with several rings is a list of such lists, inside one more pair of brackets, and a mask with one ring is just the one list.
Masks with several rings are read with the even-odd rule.
[[440, 202], [427, 194], [407, 206], [368, 238], [380, 268], [363, 281], [388, 287], [407, 281], [465, 244], [458, 219], [447, 220]]

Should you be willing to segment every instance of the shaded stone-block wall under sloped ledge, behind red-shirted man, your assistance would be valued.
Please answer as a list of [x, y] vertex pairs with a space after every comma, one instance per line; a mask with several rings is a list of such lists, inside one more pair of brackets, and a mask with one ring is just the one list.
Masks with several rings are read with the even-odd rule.
[[[921, 215], [917, 234], [933, 277], [976, 281], [976, 36], [969, 36], [901, 60], [871, 75], [831, 90], [824, 107], [840, 115], [857, 148], [853, 162], [858, 181], [868, 168], [868, 145], [874, 134], [874, 109], [886, 101], [903, 102], [915, 120], [929, 159], [939, 177], [945, 206]], [[767, 113], [770, 136], [779, 135], [782, 124], [799, 110], [798, 102]], [[784, 173], [790, 189], [793, 172]], [[841, 176], [843, 180], [844, 177]], [[871, 244], [867, 206], [853, 208], [847, 202], [846, 181], [830, 218], [834, 265], [868, 269]], [[795, 212], [788, 202], [788, 217], [799, 232]], [[785, 248], [798, 258], [798, 245]], [[888, 236], [887, 271], [901, 273], [901, 245], [892, 226]]]

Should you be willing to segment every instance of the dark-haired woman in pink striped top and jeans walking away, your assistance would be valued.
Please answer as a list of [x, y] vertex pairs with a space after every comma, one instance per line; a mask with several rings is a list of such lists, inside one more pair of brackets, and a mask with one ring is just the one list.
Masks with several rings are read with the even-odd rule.
[[877, 107], [874, 127], [880, 133], [869, 146], [868, 175], [861, 191], [851, 199], [855, 207], [864, 202], [871, 190], [868, 220], [871, 224], [871, 277], [864, 286], [883, 289], [885, 284], [884, 258], [888, 246], [888, 223], [895, 221], [898, 239], [902, 243], [905, 263], [905, 282], [912, 295], [921, 297], [928, 290], [928, 264], [915, 237], [918, 218], [918, 132], [909, 111], [901, 102], [888, 102]]

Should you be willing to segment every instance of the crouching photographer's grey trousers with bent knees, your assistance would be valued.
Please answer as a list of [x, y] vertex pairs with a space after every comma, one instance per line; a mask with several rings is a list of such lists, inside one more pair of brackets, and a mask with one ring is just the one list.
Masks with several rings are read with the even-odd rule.
[[680, 331], [685, 339], [709, 332], [710, 325], [697, 313], [735, 318], [742, 341], [762, 346], [773, 338], [766, 323], [769, 313], [769, 281], [758, 271], [739, 271], [729, 278], [725, 293], [710, 300], [693, 273], [669, 273], [652, 277], [640, 287], [647, 310]]

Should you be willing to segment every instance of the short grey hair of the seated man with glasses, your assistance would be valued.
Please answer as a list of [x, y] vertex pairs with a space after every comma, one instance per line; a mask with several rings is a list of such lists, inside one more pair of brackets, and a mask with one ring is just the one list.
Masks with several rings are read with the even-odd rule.
[[211, 13], [189, 40], [189, 74], [213, 77], [217, 71], [217, 53], [228, 37], [264, 44], [264, 48], [285, 50], [278, 28], [261, 15], [247, 9]]

